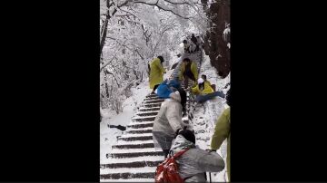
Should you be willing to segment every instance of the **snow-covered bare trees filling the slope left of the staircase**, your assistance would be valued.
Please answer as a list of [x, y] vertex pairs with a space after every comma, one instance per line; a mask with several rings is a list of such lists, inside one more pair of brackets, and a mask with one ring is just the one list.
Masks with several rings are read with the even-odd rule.
[[147, 63], [163, 55], [166, 67], [184, 33], [206, 30], [193, 0], [100, 0], [101, 107], [122, 111], [130, 88], [146, 79]]

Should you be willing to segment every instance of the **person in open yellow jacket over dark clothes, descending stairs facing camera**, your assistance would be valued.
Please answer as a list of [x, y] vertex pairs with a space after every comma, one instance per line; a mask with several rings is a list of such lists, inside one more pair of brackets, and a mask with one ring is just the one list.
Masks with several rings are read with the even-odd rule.
[[184, 80], [184, 88], [187, 89], [189, 79], [196, 82], [198, 75], [196, 63], [191, 61], [189, 58], [184, 58], [179, 73], [179, 79]]

